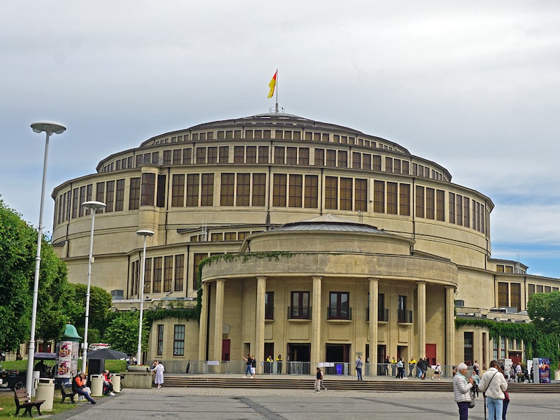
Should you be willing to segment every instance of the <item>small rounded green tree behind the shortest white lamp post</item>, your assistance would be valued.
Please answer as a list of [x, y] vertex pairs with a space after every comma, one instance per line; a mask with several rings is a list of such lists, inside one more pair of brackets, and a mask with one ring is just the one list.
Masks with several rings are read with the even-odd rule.
[[[120, 312], [109, 324], [105, 332], [106, 341], [111, 343], [111, 348], [127, 354], [136, 354], [138, 351], [138, 325], [140, 322], [139, 311]], [[146, 320], [142, 322], [142, 349], [148, 346], [149, 328]]]

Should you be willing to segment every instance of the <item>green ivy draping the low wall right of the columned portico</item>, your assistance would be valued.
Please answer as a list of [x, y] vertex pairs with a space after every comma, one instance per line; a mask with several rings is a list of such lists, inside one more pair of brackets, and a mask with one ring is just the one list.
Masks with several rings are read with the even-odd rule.
[[551, 365], [558, 365], [560, 360], [560, 335], [542, 334], [532, 323], [497, 322], [481, 318], [455, 318], [455, 329], [472, 325], [488, 330], [492, 339], [507, 337], [522, 339], [526, 346], [527, 358], [548, 357]]

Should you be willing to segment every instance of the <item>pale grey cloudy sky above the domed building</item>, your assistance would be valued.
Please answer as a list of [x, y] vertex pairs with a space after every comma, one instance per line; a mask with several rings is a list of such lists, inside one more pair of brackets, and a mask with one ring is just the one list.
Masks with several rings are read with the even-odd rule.
[[0, 9], [0, 195], [52, 189], [157, 134], [287, 113], [384, 137], [488, 195], [493, 257], [560, 276], [560, 1], [18, 0]]

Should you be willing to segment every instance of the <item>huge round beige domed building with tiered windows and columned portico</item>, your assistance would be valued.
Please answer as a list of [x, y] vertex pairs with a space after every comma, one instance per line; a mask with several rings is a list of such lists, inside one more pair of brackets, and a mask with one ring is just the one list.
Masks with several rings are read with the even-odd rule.
[[[146, 355], [186, 360], [430, 364], [525, 359], [456, 316], [525, 322], [532, 293], [559, 281], [491, 258], [489, 197], [392, 141], [275, 112], [195, 125], [114, 153], [57, 186], [52, 243], [69, 280], [116, 310], [194, 307], [200, 322], [158, 319]], [[211, 258], [209, 258], [211, 257]], [[204, 260], [209, 258], [207, 260]], [[200, 262], [202, 267], [200, 267]], [[200, 270], [200, 281], [199, 281]], [[373, 372], [373, 371], [372, 371]]]

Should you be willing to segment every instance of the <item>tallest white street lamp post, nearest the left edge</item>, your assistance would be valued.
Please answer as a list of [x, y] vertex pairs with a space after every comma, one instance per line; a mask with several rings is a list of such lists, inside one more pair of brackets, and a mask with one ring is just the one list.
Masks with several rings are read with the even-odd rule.
[[39, 209], [39, 225], [37, 233], [37, 253], [35, 257], [35, 278], [33, 282], [33, 304], [31, 306], [31, 335], [29, 337], [29, 346], [27, 346], [27, 374], [26, 381], [29, 389], [33, 388], [31, 381], [33, 380], [33, 365], [35, 358], [35, 325], [37, 321], [37, 297], [39, 293], [39, 272], [41, 269], [41, 241], [43, 240], [43, 207], [45, 204], [45, 183], [47, 179], [47, 160], [48, 160], [48, 139], [51, 134], [62, 134], [66, 127], [60, 123], [53, 121], [38, 121], [31, 124], [31, 128], [36, 133], [45, 132], [47, 135], [45, 140], [45, 160], [43, 161], [43, 184], [41, 186], [41, 208]]

